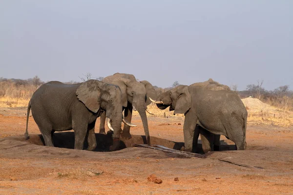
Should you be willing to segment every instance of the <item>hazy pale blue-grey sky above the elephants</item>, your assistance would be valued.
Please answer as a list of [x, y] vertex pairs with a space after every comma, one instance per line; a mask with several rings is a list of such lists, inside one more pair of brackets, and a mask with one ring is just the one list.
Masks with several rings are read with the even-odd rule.
[[292, 0], [2, 0], [0, 77], [293, 89]]

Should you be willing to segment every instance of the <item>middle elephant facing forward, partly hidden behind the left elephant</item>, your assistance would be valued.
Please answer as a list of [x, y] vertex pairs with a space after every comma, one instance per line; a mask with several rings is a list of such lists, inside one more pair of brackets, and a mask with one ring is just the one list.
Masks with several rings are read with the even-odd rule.
[[[151, 103], [149, 98], [157, 98], [157, 93], [152, 84], [146, 80], [137, 81], [134, 75], [123, 73], [115, 73], [114, 75], [105, 77], [102, 81], [109, 84], [115, 84], [120, 87], [122, 91], [123, 110], [126, 120], [131, 122], [132, 110], [134, 109], [138, 111], [143, 121], [146, 142], [150, 145], [146, 112], [151, 115], [152, 113], [147, 109], [147, 105]], [[101, 116], [100, 121], [100, 133], [105, 134], [105, 114]], [[126, 139], [131, 138], [130, 126], [124, 125], [121, 136]]]

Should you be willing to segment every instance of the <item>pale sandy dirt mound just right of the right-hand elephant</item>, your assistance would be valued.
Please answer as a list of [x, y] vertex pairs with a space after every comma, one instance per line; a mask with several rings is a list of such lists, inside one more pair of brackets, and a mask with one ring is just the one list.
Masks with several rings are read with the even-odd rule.
[[262, 112], [264, 110], [276, 110], [276, 108], [262, 102], [257, 98], [241, 99], [249, 112]]

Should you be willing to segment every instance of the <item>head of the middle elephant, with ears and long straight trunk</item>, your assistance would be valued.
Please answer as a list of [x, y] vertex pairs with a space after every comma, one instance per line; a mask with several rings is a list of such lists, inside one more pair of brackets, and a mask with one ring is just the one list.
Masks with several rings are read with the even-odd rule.
[[146, 80], [139, 82], [129, 78], [116, 78], [110, 82], [120, 87], [123, 107], [131, 105], [134, 110], [138, 111], [143, 121], [147, 144], [150, 145], [146, 112], [152, 114], [147, 109], [147, 105], [151, 103], [149, 98], [157, 98], [154, 87]]

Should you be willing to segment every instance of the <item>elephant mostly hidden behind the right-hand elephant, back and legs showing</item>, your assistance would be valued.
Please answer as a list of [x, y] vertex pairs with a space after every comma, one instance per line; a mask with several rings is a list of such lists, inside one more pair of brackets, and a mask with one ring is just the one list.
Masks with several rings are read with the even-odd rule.
[[[220, 84], [217, 81], [214, 81], [213, 79], [209, 78], [209, 80], [204, 81], [204, 82], [196, 82], [191, 84], [190, 86], [199, 86], [202, 87], [204, 89], [209, 89], [209, 90], [213, 90], [213, 91], [219, 91], [219, 90], [226, 90], [226, 91], [231, 91], [230, 87], [227, 85], [223, 85]], [[199, 134], [206, 134], [206, 137], [209, 136], [210, 141], [211, 141], [211, 146], [208, 148], [205, 148], [205, 146], [203, 146], [203, 151], [205, 153], [209, 152], [209, 151], [219, 151], [220, 150], [220, 137], [221, 135], [209, 135], [208, 132], [205, 132], [205, 130], [203, 130], [200, 126], [197, 126], [195, 131], [194, 131], [194, 139], [198, 139]], [[202, 137], [202, 136], [201, 136]]]

